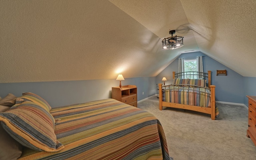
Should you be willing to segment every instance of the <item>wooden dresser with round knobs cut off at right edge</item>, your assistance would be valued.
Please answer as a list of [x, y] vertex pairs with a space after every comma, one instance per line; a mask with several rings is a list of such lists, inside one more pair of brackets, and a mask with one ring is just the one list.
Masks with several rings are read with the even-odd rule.
[[256, 146], [256, 96], [248, 97], [248, 130], [247, 137], [252, 139], [252, 142]]

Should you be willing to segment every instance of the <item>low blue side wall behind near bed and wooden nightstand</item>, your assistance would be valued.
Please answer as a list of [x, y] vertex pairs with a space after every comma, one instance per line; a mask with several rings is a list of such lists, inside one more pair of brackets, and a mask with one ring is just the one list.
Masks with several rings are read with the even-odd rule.
[[[132, 84], [137, 86], [138, 101], [156, 94], [156, 77], [125, 78], [122, 86]], [[28, 82], [0, 83], [0, 97], [8, 93], [22, 96], [23, 92], [32, 92], [44, 98], [52, 107], [89, 102], [111, 98], [113, 86], [119, 86], [119, 81], [80, 80], [61, 82]], [[144, 92], [144, 94], [142, 94]]]

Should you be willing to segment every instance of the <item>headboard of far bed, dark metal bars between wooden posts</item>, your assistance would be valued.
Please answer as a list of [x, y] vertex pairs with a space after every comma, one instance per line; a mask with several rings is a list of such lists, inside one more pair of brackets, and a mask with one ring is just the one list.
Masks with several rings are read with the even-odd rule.
[[208, 70], [208, 73], [206, 72], [179, 72], [179, 73], [175, 73], [175, 72], [172, 72], [172, 78], [181, 78], [182, 76], [186, 76], [186, 77], [189, 77], [190, 79], [195, 79], [195, 78], [192, 78], [194, 76], [200, 76], [201, 78], [204, 78], [204, 79], [208, 79], [208, 87], [210, 88], [210, 85], [211, 85], [211, 73], [212, 71]]

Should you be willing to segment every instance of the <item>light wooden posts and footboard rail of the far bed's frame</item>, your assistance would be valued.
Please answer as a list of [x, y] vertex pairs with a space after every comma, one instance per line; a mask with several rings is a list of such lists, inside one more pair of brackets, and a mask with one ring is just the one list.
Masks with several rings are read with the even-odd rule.
[[[177, 74], [176, 74], [177, 75]], [[175, 78], [175, 72], [172, 72], [173, 79]], [[202, 112], [206, 114], [210, 114], [212, 120], [215, 120], [215, 86], [211, 85], [211, 71], [208, 70], [208, 76], [205, 76], [208, 78], [208, 87], [211, 90], [211, 107], [200, 107], [200, 106], [190, 106], [186, 104], [177, 104], [177, 103], [171, 103], [171, 102], [164, 102], [162, 101], [162, 90], [164, 86], [162, 84], [159, 85], [159, 109], [162, 110], [162, 107], [172, 107], [172, 108], [181, 108], [186, 110], [193, 110], [196, 112]], [[166, 85], [167, 86], [167, 85]]]

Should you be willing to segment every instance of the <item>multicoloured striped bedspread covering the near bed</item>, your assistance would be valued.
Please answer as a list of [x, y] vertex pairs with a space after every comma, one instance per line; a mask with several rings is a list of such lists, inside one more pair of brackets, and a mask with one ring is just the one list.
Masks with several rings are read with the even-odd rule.
[[114, 99], [52, 108], [64, 149], [24, 148], [20, 160], [170, 160], [162, 125], [149, 112]]

